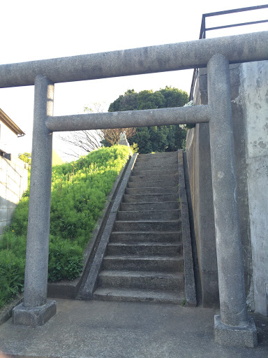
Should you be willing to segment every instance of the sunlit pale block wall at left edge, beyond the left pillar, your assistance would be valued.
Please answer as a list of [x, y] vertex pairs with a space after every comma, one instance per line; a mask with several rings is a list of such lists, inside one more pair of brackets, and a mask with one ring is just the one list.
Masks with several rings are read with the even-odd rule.
[[10, 159], [0, 157], [0, 237], [11, 223], [15, 207], [28, 184], [25, 163], [13, 155]]

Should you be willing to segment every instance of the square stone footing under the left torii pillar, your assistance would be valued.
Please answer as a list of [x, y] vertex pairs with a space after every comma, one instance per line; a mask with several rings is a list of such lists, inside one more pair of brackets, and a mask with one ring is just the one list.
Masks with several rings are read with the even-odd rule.
[[56, 301], [47, 301], [43, 306], [27, 308], [23, 305], [16, 306], [12, 310], [13, 324], [23, 324], [29, 327], [42, 326], [56, 313]]

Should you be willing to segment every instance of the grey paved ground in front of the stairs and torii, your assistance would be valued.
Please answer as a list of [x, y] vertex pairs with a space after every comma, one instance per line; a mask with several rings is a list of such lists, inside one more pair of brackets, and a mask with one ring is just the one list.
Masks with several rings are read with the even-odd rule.
[[11, 357], [267, 358], [268, 319], [254, 315], [258, 348], [214, 343], [216, 310], [168, 304], [57, 299], [43, 327], [0, 326], [0, 350]]

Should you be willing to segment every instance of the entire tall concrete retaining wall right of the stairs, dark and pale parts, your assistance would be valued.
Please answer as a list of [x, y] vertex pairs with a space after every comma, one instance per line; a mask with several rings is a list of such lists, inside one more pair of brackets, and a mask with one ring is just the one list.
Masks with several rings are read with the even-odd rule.
[[[248, 307], [267, 315], [268, 283], [268, 62], [230, 66], [237, 192]], [[200, 69], [195, 104], [207, 104], [207, 69]], [[208, 124], [188, 131], [198, 265], [204, 307], [218, 305], [216, 243]]]

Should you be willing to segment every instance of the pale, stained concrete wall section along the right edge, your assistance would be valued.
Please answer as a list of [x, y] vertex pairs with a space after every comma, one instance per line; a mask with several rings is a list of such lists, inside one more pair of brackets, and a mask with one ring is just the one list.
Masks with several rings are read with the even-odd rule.
[[268, 315], [268, 61], [241, 64], [255, 311]]

